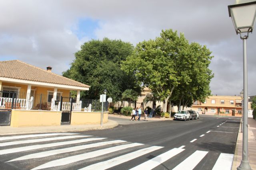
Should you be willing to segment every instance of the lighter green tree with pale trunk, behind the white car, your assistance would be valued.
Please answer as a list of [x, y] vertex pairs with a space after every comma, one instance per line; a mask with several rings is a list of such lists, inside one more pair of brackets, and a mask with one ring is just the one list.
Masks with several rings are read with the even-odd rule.
[[[144, 86], [149, 87], [166, 104], [176, 90], [180, 99], [204, 100], [210, 94], [213, 77], [211, 52], [198, 43], [188, 43], [183, 33], [162, 30], [160, 37], [137, 44], [132, 55], [122, 63], [122, 70], [134, 73]], [[190, 100], [190, 103], [191, 103]]]

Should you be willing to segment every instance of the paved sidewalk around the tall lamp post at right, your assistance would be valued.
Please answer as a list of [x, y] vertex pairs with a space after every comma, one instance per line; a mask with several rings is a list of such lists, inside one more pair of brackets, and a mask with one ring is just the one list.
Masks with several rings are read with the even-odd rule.
[[[242, 141], [243, 141], [243, 133], [241, 133], [241, 124], [238, 132], [238, 137], [236, 141], [236, 150], [232, 165], [232, 170], [236, 170], [236, 168], [240, 165], [242, 160]], [[252, 170], [256, 170], [256, 120], [252, 118], [248, 118], [248, 153], [249, 153], [249, 161]]]

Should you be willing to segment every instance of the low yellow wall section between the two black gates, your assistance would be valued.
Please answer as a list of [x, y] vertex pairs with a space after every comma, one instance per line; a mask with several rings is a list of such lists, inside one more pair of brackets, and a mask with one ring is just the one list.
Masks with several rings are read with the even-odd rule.
[[61, 111], [12, 110], [11, 127], [60, 125]]

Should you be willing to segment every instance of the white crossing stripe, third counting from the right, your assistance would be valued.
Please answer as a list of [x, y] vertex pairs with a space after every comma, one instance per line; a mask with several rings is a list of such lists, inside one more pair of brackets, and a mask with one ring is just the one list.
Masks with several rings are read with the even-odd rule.
[[179, 148], [171, 149], [171, 150], [164, 152], [163, 154], [160, 154], [146, 162], [143, 162], [142, 164], [140, 164], [138, 166], [135, 166], [134, 168], [132, 168], [130, 170], [151, 170], [151, 169], [155, 168], [156, 166], [162, 164], [166, 160], [172, 158], [176, 154], [179, 154], [183, 150], [185, 150], [185, 149], [179, 149]]

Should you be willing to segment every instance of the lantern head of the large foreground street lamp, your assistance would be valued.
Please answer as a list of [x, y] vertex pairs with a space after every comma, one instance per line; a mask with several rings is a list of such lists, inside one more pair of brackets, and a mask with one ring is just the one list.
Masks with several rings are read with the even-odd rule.
[[228, 14], [232, 18], [236, 34], [250, 33], [256, 17], [256, 1], [229, 5]]

